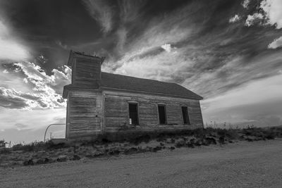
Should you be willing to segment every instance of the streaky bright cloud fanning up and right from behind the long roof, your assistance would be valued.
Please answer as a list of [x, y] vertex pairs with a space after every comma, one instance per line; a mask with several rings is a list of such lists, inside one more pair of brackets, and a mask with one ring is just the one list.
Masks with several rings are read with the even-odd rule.
[[[152, 19], [141, 35], [133, 35], [134, 39], [128, 33], [125, 54], [118, 61], [104, 64], [104, 68], [124, 75], [177, 82], [207, 98], [277, 74], [274, 68], [282, 58], [278, 52], [247, 58], [245, 53], [257, 44], [257, 39], [239, 32], [233, 35], [232, 30], [240, 27], [236, 25], [201, 32], [202, 25], [195, 25], [190, 17], [194, 11], [197, 6], [189, 4], [167, 14], [165, 19]], [[204, 18], [201, 21], [207, 22]]]

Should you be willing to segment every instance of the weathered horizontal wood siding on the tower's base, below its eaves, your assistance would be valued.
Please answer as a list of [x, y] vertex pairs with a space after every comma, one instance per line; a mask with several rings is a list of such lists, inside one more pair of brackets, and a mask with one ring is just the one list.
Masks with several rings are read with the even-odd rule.
[[70, 92], [67, 137], [91, 137], [101, 132], [102, 105], [102, 94], [99, 92]]

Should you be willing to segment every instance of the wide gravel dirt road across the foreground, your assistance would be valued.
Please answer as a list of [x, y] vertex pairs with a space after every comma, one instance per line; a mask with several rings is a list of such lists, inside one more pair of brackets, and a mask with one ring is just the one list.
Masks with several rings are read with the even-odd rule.
[[282, 139], [0, 168], [0, 187], [282, 187]]

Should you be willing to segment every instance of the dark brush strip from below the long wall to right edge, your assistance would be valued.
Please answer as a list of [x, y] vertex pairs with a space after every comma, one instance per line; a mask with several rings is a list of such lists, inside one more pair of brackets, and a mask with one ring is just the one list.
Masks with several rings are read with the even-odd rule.
[[[196, 139], [203, 140], [203, 144], [216, 144], [219, 142], [221, 144], [226, 144], [226, 142], [231, 142], [234, 139], [246, 139], [246, 137], [253, 136], [256, 140], [260, 139], [274, 139], [275, 137], [282, 137], [282, 127], [267, 127], [267, 128], [257, 128], [257, 127], [247, 127], [245, 129], [221, 129], [207, 127], [205, 129], [198, 128], [195, 130], [158, 130], [154, 132], [117, 132], [117, 133], [105, 133], [99, 135], [96, 139], [90, 142], [82, 142], [83, 145], [99, 145], [108, 144], [111, 142], [129, 142], [130, 144], [138, 145], [141, 142], [148, 143], [152, 139], [156, 139], [157, 142], [166, 142], [167, 139], [174, 143], [177, 139], [183, 139], [185, 137], [195, 137]], [[206, 138], [209, 138], [207, 140]], [[213, 138], [213, 139], [212, 139]], [[179, 146], [178, 143], [176, 143]]]

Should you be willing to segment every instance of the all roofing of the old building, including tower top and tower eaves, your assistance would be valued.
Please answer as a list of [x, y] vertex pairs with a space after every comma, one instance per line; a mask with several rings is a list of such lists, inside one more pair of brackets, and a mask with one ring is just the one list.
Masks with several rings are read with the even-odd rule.
[[[90, 56], [78, 51], [71, 51], [68, 58], [68, 65], [73, 65], [74, 58], [88, 59], [99, 61], [101, 64], [104, 61], [104, 57]], [[130, 77], [125, 75], [116, 75], [111, 73], [101, 72], [101, 80], [97, 80], [91, 85], [81, 84], [68, 84], [63, 87], [63, 98], [68, 95], [68, 90], [75, 89], [118, 89], [126, 92], [139, 92], [147, 94], [159, 94], [163, 96], [177, 96], [186, 99], [203, 99], [202, 96], [191, 92], [189, 89], [180, 86], [176, 83], [160, 82], [157, 80], [149, 80], [138, 77]]]

